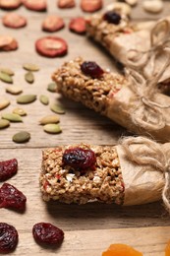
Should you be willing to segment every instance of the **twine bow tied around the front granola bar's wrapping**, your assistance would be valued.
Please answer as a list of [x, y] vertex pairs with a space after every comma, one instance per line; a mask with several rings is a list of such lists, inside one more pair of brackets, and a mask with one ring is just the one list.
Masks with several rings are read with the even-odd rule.
[[[129, 160], [138, 164], [149, 164], [164, 173], [165, 185], [162, 190], [162, 199], [170, 213], [170, 160], [164, 153], [161, 145], [144, 137], [130, 137], [123, 139], [121, 145]], [[133, 148], [134, 145], [139, 147]]]

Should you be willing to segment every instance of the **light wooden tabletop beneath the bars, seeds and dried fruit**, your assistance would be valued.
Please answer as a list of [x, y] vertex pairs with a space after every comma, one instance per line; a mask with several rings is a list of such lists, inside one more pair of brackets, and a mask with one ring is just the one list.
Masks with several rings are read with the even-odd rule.
[[[42, 105], [37, 99], [24, 108], [28, 115], [23, 123], [11, 123], [8, 129], [0, 131], [0, 160], [16, 158], [19, 161], [17, 175], [9, 183], [22, 190], [28, 198], [27, 211], [24, 214], [7, 209], [0, 209], [0, 220], [13, 224], [19, 231], [20, 241], [14, 255], [48, 255], [57, 253], [63, 256], [98, 256], [111, 243], [126, 243], [142, 251], [143, 255], [163, 256], [164, 247], [170, 239], [170, 217], [164, 210], [162, 202], [136, 206], [120, 207], [116, 205], [87, 204], [83, 206], [65, 205], [55, 202], [44, 203], [39, 191], [38, 177], [41, 168], [42, 149], [56, 145], [86, 142], [100, 145], [114, 145], [121, 135], [127, 135], [125, 129], [109, 119], [74, 102], [47, 91], [51, 74], [66, 61], [79, 55], [86, 60], [94, 60], [102, 67], [115, 70], [112, 57], [97, 44], [83, 35], [69, 32], [68, 24], [72, 17], [84, 14], [77, 1], [77, 7], [71, 10], [59, 10], [55, 0], [48, 1], [48, 14], [61, 15], [66, 23], [64, 30], [55, 32], [69, 44], [69, 53], [62, 58], [48, 59], [35, 53], [34, 41], [47, 32], [40, 29], [41, 22], [47, 13], [36, 13], [24, 7], [16, 10], [28, 18], [25, 29], [11, 30], [0, 24], [1, 33], [14, 35], [20, 44], [17, 51], [0, 52], [0, 67], [9, 67], [15, 71], [14, 84], [23, 87], [25, 94], [47, 95], [50, 102], [59, 101], [66, 109], [60, 115], [63, 132], [50, 135], [43, 132], [38, 121], [50, 114], [49, 106]], [[105, 0], [111, 3], [112, 0]], [[142, 3], [142, 1], [141, 1]], [[164, 11], [159, 15], [149, 15], [142, 10], [141, 4], [133, 9], [134, 20], [158, 19], [168, 15], [170, 3], [164, 2]], [[1, 17], [5, 14], [0, 11]], [[29, 85], [25, 81], [24, 63], [35, 63], [40, 71], [34, 73], [35, 82]], [[0, 82], [0, 96], [8, 97], [11, 105], [1, 112], [10, 112], [17, 106], [16, 96], [7, 95], [7, 84]], [[27, 144], [15, 144], [12, 136], [21, 130], [27, 130], [31, 139]], [[33, 224], [49, 222], [56, 224], [65, 232], [65, 240], [57, 250], [45, 249], [37, 245], [31, 234]]]

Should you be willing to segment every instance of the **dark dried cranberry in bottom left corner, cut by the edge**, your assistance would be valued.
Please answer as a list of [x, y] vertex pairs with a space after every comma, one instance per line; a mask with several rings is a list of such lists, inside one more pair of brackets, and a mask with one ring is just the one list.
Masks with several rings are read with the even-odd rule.
[[18, 231], [11, 224], [0, 223], [0, 253], [12, 252], [18, 244]]

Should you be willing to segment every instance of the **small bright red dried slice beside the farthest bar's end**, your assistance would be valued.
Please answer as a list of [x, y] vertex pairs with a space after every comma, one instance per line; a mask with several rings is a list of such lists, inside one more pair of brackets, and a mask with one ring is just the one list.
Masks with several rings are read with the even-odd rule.
[[71, 32], [85, 33], [86, 32], [85, 25], [86, 25], [85, 18], [78, 17], [78, 18], [74, 18], [71, 20], [71, 22], [69, 24], [69, 29]]

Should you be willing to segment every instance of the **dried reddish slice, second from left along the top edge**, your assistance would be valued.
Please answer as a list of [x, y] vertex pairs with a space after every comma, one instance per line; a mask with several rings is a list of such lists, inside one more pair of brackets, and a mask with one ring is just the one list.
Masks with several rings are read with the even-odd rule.
[[47, 9], [46, 0], [24, 0], [23, 3], [31, 11], [43, 12]]

